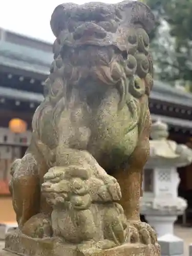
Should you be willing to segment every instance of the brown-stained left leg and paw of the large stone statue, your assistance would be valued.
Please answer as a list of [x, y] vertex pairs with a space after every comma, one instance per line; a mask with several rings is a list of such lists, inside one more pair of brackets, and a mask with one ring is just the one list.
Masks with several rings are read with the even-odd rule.
[[[37, 164], [36, 157], [29, 150], [22, 159], [17, 159], [11, 168], [10, 191], [13, 207], [19, 229], [28, 236], [44, 237], [52, 233], [52, 210], [40, 193], [41, 176], [44, 176], [46, 170], [46, 165], [39, 164], [39, 161]], [[45, 232], [40, 231], [44, 229]]]

